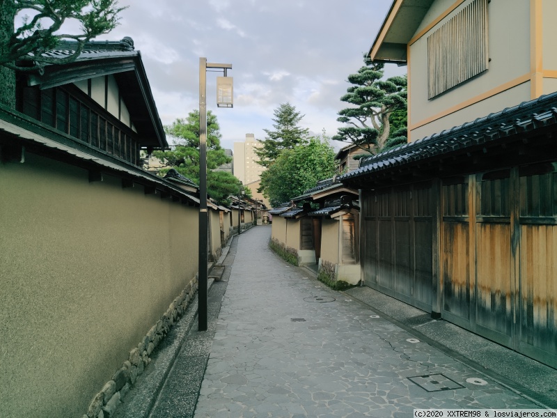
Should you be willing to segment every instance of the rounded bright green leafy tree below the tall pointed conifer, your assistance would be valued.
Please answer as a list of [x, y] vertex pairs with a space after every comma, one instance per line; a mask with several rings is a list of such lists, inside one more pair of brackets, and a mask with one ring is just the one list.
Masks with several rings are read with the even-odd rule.
[[261, 174], [260, 192], [272, 206], [278, 206], [305, 190], [317, 181], [336, 173], [335, 151], [327, 137], [312, 137], [307, 144], [283, 150], [269, 169]]

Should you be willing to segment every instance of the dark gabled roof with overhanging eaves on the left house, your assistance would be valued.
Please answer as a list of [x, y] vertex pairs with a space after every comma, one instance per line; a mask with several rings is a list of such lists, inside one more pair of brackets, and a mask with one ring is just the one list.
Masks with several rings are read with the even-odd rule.
[[[45, 55], [63, 58], [72, 54], [74, 48], [75, 42], [61, 42], [57, 49]], [[38, 85], [45, 89], [104, 75], [114, 75], [116, 78], [120, 94], [140, 136], [141, 146], [168, 148], [141, 52], [133, 49], [131, 38], [118, 42], [88, 42], [75, 61], [48, 64], [42, 73], [29, 72], [26, 77], [30, 86]]]

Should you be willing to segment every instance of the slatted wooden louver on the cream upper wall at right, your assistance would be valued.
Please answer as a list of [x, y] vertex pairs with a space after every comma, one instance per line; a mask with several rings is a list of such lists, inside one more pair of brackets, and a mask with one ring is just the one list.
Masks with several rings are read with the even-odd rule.
[[427, 37], [428, 98], [487, 70], [487, 0], [473, 0]]

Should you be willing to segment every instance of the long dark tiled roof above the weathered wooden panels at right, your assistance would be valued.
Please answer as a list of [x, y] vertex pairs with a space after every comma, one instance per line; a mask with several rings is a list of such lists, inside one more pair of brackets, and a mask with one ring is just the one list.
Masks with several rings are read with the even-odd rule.
[[557, 93], [522, 102], [515, 107], [477, 118], [473, 122], [444, 130], [430, 137], [404, 144], [360, 160], [360, 167], [339, 177], [340, 181], [393, 169], [409, 162], [485, 144], [513, 134], [531, 132], [538, 127], [557, 124]]

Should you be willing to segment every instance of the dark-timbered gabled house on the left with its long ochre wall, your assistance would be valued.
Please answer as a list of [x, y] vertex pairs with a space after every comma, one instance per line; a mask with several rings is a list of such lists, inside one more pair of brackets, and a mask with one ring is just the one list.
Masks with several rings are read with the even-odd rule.
[[102, 414], [104, 384], [134, 382], [193, 295], [195, 187], [141, 169], [140, 149], [166, 147], [130, 38], [17, 73], [17, 108], [0, 106], [2, 415]]

